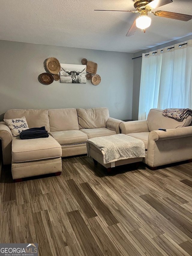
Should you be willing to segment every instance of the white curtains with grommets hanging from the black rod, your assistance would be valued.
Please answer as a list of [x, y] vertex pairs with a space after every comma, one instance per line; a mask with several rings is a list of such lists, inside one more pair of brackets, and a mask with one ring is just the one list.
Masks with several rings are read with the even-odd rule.
[[142, 56], [138, 120], [174, 107], [192, 109], [192, 40]]

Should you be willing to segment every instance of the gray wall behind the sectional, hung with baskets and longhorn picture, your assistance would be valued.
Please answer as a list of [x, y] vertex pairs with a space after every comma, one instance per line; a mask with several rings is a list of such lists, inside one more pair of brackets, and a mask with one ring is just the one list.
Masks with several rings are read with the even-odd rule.
[[[86, 58], [98, 63], [98, 86], [54, 81], [39, 83], [44, 60], [81, 64]], [[133, 54], [0, 41], [0, 117], [8, 109], [108, 107], [110, 116], [131, 119]]]

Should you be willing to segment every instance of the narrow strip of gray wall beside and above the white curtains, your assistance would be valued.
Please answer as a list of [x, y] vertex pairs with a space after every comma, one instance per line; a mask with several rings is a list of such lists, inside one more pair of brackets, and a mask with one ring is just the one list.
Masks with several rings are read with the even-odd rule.
[[[138, 56], [142, 56], [142, 53], [148, 53], [151, 51], [155, 51], [157, 49], [168, 47], [173, 44], [179, 44], [181, 42], [187, 41], [192, 39], [192, 35], [177, 39], [175, 41], [158, 45], [153, 48], [149, 48], [137, 53], [134, 53], [134, 58]], [[192, 57], [192, 56], [191, 56]], [[132, 119], [137, 120], [138, 119], [138, 112], [139, 112], [139, 93], [140, 93], [140, 81], [141, 81], [141, 65], [142, 65], [142, 58], [134, 59], [134, 78], [133, 78], [133, 106], [132, 106]]]

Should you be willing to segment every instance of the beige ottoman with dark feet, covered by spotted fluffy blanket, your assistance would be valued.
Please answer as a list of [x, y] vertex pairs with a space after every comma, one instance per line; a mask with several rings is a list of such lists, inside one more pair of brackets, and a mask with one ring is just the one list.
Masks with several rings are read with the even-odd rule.
[[[128, 143], [129, 137], [130, 137], [130, 141], [131, 141], [130, 144]], [[103, 140], [104, 147], [99, 146], [99, 143], [97, 141], [98, 139], [99, 139], [99, 143], [102, 143], [102, 140]], [[111, 143], [111, 139], [113, 139], [112, 143]], [[128, 148], [128, 147], [129, 147], [129, 150], [127, 150], [127, 151], [129, 151], [129, 152], [130, 152], [130, 147], [131, 147], [131, 149], [133, 149], [134, 147], [140, 147], [140, 151], [139, 151], [138, 155], [134, 155], [134, 154], [129, 155], [128, 154], [126, 157], [126, 155], [125, 155], [126, 153], [124, 152], [124, 155], [121, 155], [121, 153], [119, 154], [121, 156], [121, 157], [119, 157], [119, 160], [116, 159], [109, 163], [104, 163], [104, 155], [107, 151], [109, 151], [111, 146], [113, 146], [113, 148], [115, 148], [116, 151], [121, 151], [121, 147], [119, 146], [121, 144], [121, 143], [119, 144], [120, 139], [121, 140], [126, 139], [126, 141], [122, 142], [122, 145], [121, 145], [121, 147], [122, 146], [125, 147], [125, 150], [124, 150], [125, 152], [126, 152], [126, 148]], [[140, 142], [138, 143], [138, 141], [140, 141]], [[109, 145], [109, 148], [108, 148], [108, 145]], [[113, 150], [113, 148], [111, 150]], [[112, 167], [116, 167], [116, 166], [124, 165], [124, 164], [141, 162], [143, 160], [143, 157], [145, 157], [145, 145], [144, 145], [143, 141], [135, 139], [135, 138], [131, 138], [131, 136], [128, 136], [125, 134], [116, 134], [116, 135], [110, 135], [110, 136], [105, 136], [105, 137], [101, 137], [101, 138], [92, 138], [92, 139], [87, 140], [87, 153], [88, 153], [89, 157], [93, 158], [94, 164], [97, 164], [97, 162], [99, 162], [100, 164], [102, 164], [104, 167], [107, 168], [108, 172], [110, 172]], [[137, 167], [138, 167], [138, 165], [137, 165]]]

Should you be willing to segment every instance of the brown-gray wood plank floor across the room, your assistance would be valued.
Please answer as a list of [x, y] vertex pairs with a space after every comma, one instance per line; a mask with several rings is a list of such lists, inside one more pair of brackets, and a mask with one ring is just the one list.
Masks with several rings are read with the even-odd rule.
[[38, 243], [40, 256], [192, 255], [192, 163], [140, 164], [109, 176], [80, 156], [61, 176], [0, 179], [0, 243]]

